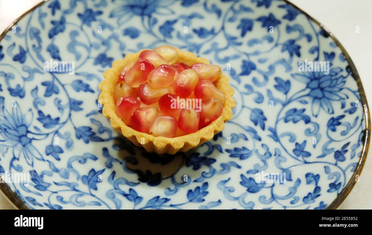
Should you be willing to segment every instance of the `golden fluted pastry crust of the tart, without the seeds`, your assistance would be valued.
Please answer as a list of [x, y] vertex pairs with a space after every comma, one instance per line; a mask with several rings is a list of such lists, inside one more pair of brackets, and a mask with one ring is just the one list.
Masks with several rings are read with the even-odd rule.
[[[143, 50], [141, 50], [143, 51]], [[140, 52], [141, 52], [140, 51]], [[176, 61], [183, 62], [189, 66], [196, 63], [210, 64], [205, 58], [196, 57], [191, 52], [180, 51], [177, 48], [179, 58]], [[105, 78], [100, 84], [99, 89], [102, 93], [98, 100], [103, 105], [102, 113], [106, 118], [110, 119], [111, 126], [122, 133], [126, 138], [132, 141], [138, 147], [143, 147], [148, 152], [157, 152], [158, 154], [168, 153], [175, 154], [176, 152], [186, 152], [191, 148], [198, 147], [206, 141], [213, 138], [215, 134], [222, 131], [225, 122], [232, 118], [232, 108], [235, 107], [236, 102], [232, 98], [234, 89], [229, 85], [229, 78], [222, 74], [215, 82], [215, 87], [225, 94], [226, 101], [223, 104], [223, 111], [221, 116], [214, 120], [208, 126], [199, 129], [198, 131], [174, 138], [166, 138], [163, 136], [153, 136], [147, 133], [135, 131], [127, 126], [118, 115], [116, 115], [116, 107], [113, 99], [113, 91], [118, 81], [118, 77], [122, 69], [131, 61], [137, 61], [140, 52], [131, 53], [125, 56], [124, 59], [116, 60], [112, 64], [112, 68], [103, 73]], [[143, 139], [142, 139], [143, 138]], [[142, 140], [142, 144], [141, 144]]]

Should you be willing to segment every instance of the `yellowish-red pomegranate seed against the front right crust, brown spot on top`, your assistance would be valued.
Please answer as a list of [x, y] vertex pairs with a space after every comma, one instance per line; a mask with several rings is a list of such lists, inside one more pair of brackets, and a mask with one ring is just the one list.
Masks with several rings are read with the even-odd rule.
[[221, 100], [208, 99], [202, 101], [202, 110], [200, 111], [200, 122], [199, 128], [208, 126], [216, 120], [222, 113], [224, 107], [222, 106]]

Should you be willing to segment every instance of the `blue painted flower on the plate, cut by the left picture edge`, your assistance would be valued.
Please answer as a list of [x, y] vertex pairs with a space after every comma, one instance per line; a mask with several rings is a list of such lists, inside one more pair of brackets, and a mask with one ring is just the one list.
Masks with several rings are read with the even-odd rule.
[[18, 103], [15, 103], [12, 113], [4, 107], [4, 97], [0, 96], [0, 146], [13, 149], [16, 159], [25, 158], [33, 166], [33, 158], [44, 161], [43, 156], [35, 146], [33, 138], [29, 136], [33, 113], [31, 110], [23, 115]]

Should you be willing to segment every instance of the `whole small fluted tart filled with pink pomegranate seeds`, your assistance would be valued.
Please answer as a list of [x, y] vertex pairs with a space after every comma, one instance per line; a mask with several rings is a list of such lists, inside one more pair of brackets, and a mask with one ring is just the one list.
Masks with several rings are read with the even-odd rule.
[[99, 89], [113, 128], [148, 152], [175, 154], [224, 129], [235, 107], [221, 67], [172, 46], [114, 61]]

